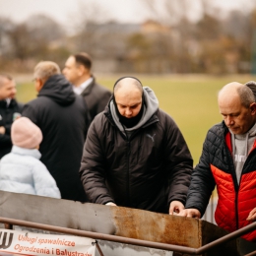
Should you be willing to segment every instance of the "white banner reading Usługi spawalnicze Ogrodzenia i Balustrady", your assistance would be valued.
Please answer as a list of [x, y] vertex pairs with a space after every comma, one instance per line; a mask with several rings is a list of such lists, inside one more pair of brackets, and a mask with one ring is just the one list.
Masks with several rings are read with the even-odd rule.
[[96, 240], [0, 228], [0, 252], [20, 255], [95, 256]]

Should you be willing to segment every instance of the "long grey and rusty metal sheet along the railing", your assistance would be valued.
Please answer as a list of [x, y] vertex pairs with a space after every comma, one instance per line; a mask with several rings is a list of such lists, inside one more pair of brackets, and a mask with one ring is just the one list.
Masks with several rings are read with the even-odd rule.
[[[226, 233], [202, 220], [5, 191], [0, 191], [0, 217], [192, 248]], [[236, 250], [236, 241], [229, 244]]]

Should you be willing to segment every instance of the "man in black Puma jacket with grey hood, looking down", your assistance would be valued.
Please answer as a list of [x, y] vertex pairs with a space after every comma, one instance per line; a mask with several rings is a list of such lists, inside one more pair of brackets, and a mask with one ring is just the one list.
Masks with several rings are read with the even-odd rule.
[[173, 214], [184, 209], [193, 160], [154, 92], [120, 78], [90, 126], [80, 169], [92, 203]]

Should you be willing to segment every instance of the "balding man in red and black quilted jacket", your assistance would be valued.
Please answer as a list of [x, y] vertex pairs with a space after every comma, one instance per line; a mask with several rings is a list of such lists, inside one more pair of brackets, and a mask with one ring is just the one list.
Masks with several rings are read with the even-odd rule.
[[[252, 91], [236, 82], [224, 86], [218, 104], [224, 121], [207, 134], [179, 215], [201, 218], [217, 186], [216, 223], [232, 232], [256, 220], [256, 104]], [[243, 237], [255, 242], [256, 231]]]

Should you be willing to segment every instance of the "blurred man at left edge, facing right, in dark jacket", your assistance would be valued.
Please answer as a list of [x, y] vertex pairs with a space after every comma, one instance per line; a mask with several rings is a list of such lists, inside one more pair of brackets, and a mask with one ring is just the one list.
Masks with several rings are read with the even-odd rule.
[[0, 74], [0, 159], [11, 152], [11, 126], [23, 109], [23, 104], [15, 99], [16, 93], [15, 81]]

